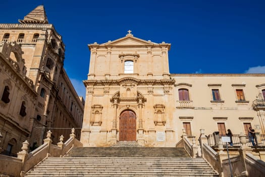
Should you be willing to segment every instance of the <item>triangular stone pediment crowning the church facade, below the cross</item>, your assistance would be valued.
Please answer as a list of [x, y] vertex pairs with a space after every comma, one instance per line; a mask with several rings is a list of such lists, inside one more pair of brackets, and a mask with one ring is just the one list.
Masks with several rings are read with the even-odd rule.
[[132, 34], [127, 34], [125, 37], [116, 39], [114, 41], [109, 41], [107, 43], [103, 43], [103, 45], [106, 46], [145, 46], [154, 44], [154, 42], [134, 37]]

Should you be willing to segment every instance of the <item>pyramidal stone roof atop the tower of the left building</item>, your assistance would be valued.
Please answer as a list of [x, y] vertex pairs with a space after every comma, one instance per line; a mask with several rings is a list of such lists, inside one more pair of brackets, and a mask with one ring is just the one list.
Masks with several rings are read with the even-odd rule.
[[24, 17], [24, 20], [18, 20], [20, 23], [23, 24], [47, 24], [48, 19], [44, 10], [44, 6], [40, 5], [36, 7], [33, 11], [31, 11], [28, 15]]

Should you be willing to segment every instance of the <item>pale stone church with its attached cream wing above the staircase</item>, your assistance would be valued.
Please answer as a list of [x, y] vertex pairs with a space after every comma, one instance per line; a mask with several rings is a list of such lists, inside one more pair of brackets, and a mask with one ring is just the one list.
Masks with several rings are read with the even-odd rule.
[[171, 74], [170, 43], [131, 34], [88, 45], [91, 52], [81, 142], [136, 141], [175, 147], [185, 130], [198, 139], [227, 129], [265, 134], [265, 74]]

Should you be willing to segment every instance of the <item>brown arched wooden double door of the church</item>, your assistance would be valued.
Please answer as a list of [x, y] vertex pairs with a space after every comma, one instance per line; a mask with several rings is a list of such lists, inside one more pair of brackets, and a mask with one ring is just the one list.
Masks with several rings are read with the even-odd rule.
[[136, 141], [136, 115], [131, 110], [123, 111], [120, 115], [120, 141]]

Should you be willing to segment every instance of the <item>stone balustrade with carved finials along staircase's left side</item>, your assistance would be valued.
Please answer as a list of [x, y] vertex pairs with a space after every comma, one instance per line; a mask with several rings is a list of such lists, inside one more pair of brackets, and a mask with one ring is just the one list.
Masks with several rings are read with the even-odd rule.
[[[18, 158], [9, 157], [0, 154], [0, 176], [1, 174], [7, 174], [11, 176], [24, 176], [27, 171], [32, 169], [39, 162], [44, 160], [46, 157], [62, 157], [72, 147], [82, 147], [82, 143], [75, 138], [75, 129], [72, 128], [70, 138], [64, 143], [64, 136], [60, 136], [60, 141], [57, 146], [51, 144], [50, 130], [47, 131], [47, 136], [43, 140], [43, 144], [34, 151], [28, 153], [29, 143], [26, 140], [22, 143], [21, 151], [18, 152]], [[1, 143], [1, 132], [0, 132], [0, 143]], [[2, 148], [0, 148], [0, 151]]]

